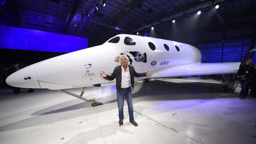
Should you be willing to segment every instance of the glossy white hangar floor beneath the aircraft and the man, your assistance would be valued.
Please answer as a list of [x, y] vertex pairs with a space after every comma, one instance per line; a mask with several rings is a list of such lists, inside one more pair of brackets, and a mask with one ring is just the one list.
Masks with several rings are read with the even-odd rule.
[[[57, 90], [0, 89], [0, 144], [255, 144], [256, 100], [196, 78], [135, 84], [134, 117], [118, 124], [115, 86], [90, 87], [91, 104]], [[21, 89], [26, 91], [28, 89]], [[81, 89], [67, 91], [80, 94]]]

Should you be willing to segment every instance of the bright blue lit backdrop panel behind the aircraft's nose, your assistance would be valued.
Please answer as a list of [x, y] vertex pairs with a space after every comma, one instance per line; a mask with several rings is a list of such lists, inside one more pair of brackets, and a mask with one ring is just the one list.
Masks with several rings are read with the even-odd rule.
[[87, 38], [0, 25], [0, 48], [74, 52], [88, 48]]

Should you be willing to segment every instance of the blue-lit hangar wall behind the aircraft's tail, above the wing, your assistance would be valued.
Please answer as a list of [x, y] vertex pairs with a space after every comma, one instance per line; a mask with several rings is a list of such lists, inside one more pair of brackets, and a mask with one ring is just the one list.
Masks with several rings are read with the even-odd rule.
[[[183, 37], [182, 41], [201, 51], [203, 63], [240, 62], [253, 35], [253, 28], [224, 30], [191, 34]], [[252, 61], [256, 62], [256, 56], [253, 56]]]

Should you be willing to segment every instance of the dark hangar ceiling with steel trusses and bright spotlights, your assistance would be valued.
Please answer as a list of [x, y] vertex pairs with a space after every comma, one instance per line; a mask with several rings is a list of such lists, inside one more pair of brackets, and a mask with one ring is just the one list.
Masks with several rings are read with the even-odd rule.
[[[86, 37], [89, 42], [106, 41], [119, 33], [144, 35], [151, 26], [162, 35], [175, 36], [255, 28], [256, 23], [255, 0], [0, 1], [1, 25]], [[198, 10], [202, 11], [200, 17], [196, 16]]]

